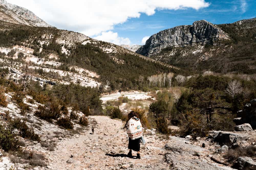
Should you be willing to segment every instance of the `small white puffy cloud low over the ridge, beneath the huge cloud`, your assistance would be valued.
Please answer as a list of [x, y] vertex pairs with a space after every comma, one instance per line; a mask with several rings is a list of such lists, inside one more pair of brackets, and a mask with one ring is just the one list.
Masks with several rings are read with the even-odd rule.
[[96, 40], [106, 41], [106, 42], [110, 42], [110, 43], [117, 44], [117, 45], [121, 45], [121, 44], [130, 45], [131, 44], [131, 41], [129, 40], [129, 38], [119, 37], [117, 32], [112, 32], [112, 31], [102, 32], [101, 35], [99, 35], [97, 37], [93, 37], [93, 38]]

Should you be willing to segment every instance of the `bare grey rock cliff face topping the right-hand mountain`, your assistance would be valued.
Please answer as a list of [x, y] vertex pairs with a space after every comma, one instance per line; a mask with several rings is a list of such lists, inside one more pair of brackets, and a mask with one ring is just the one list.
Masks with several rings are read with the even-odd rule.
[[166, 47], [183, 47], [196, 43], [206, 44], [219, 39], [229, 39], [227, 33], [208, 21], [195, 21], [193, 25], [181, 25], [152, 35], [136, 53], [152, 56]]

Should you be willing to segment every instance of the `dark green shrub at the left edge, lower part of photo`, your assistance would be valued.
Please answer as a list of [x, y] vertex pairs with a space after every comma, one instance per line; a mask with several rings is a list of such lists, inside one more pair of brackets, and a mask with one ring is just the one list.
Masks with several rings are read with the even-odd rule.
[[0, 147], [5, 152], [17, 151], [19, 149], [18, 142], [16, 135], [12, 133], [12, 128], [0, 124]]

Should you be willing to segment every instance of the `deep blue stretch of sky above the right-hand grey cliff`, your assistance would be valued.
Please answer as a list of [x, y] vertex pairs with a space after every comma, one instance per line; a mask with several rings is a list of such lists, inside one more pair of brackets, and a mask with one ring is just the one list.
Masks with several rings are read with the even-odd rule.
[[180, 10], [156, 10], [151, 16], [141, 14], [140, 18], [131, 18], [123, 24], [114, 26], [113, 32], [120, 37], [128, 37], [131, 44], [142, 44], [142, 38], [161, 30], [178, 25], [191, 25], [197, 20], [207, 20], [214, 24], [233, 23], [242, 19], [256, 17], [256, 1], [220, 1], [212, 0], [209, 7]]

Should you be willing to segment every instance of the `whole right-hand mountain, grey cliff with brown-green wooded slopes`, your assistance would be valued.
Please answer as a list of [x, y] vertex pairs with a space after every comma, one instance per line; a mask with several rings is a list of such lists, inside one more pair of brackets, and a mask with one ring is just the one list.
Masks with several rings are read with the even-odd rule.
[[201, 71], [256, 73], [256, 19], [231, 24], [205, 20], [152, 35], [136, 53], [181, 68]]

